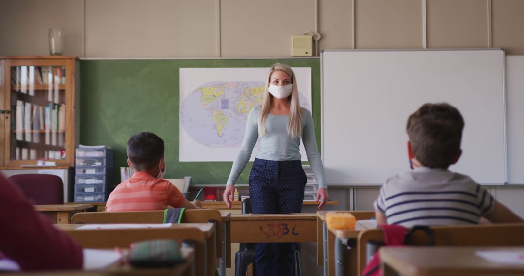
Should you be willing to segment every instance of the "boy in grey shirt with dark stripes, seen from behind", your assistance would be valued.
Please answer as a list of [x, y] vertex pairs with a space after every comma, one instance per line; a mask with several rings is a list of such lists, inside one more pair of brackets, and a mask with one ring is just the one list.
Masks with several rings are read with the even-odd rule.
[[374, 203], [378, 224], [477, 224], [482, 217], [522, 222], [470, 177], [447, 169], [462, 154], [463, 128], [459, 110], [448, 103], [425, 103], [411, 114], [406, 130], [412, 171], [389, 178], [380, 189]]

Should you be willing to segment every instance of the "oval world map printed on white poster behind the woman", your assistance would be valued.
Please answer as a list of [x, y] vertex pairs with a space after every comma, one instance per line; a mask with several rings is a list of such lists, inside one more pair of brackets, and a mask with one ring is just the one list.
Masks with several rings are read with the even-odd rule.
[[[194, 89], [180, 108], [182, 126], [208, 147], [239, 147], [249, 111], [262, 104], [264, 82], [210, 82]], [[300, 105], [311, 110], [299, 93]]]

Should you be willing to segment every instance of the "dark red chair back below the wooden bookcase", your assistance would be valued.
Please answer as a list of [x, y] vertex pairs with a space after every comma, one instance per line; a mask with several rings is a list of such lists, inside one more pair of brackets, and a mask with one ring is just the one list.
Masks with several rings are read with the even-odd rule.
[[7, 178], [24, 192], [36, 205], [63, 204], [63, 182], [55, 175], [14, 175]]

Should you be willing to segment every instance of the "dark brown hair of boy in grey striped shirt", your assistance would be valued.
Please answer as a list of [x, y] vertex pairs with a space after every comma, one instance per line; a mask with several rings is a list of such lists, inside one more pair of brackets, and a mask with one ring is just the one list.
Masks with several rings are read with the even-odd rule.
[[408, 118], [413, 154], [424, 166], [447, 168], [460, 153], [464, 119], [449, 103], [424, 103]]

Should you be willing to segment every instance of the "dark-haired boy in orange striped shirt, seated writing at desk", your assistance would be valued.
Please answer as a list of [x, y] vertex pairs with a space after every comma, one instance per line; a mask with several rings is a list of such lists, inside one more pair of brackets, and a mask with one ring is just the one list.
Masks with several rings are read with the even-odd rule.
[[169, 180], [162, 179], [166, 174], [164, 143], [154, 133], [140, 132], [127, 140], [127, 165], [135, 174], [111, 192], [107, 212], [202, 207], [200, 201], [189, 202]]

